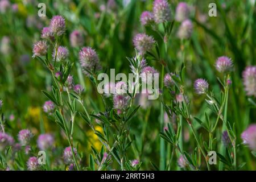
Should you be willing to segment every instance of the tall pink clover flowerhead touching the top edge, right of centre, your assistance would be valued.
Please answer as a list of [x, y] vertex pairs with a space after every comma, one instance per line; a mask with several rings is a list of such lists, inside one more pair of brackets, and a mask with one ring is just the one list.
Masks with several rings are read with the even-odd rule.
[[170, 5], [166, 0], [155, 0], [153, 4], [155, 23], [164, 23], [171, 20]]

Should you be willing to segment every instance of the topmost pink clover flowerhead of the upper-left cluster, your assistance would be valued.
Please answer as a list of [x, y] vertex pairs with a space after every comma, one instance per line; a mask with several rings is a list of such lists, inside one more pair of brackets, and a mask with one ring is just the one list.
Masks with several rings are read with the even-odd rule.
[[65, 19], [60, 16], [53, 16], [49, 28], [52, 34], [60, 36], [65, 33]]

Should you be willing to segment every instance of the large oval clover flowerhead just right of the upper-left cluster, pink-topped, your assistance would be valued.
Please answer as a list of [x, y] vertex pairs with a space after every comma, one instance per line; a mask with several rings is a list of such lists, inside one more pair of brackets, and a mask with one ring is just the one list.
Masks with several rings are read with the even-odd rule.
[[101, 69], [98, 55], [96, 51], [90, 47], [83, 47], [81, 49], [81, 51], [79, 52], [79, 60], [81, 67], [84, 69], [86, 75], [89, 75], [86, 69], [90, 72], [94, 72], [94, 69], [96, 71]]

